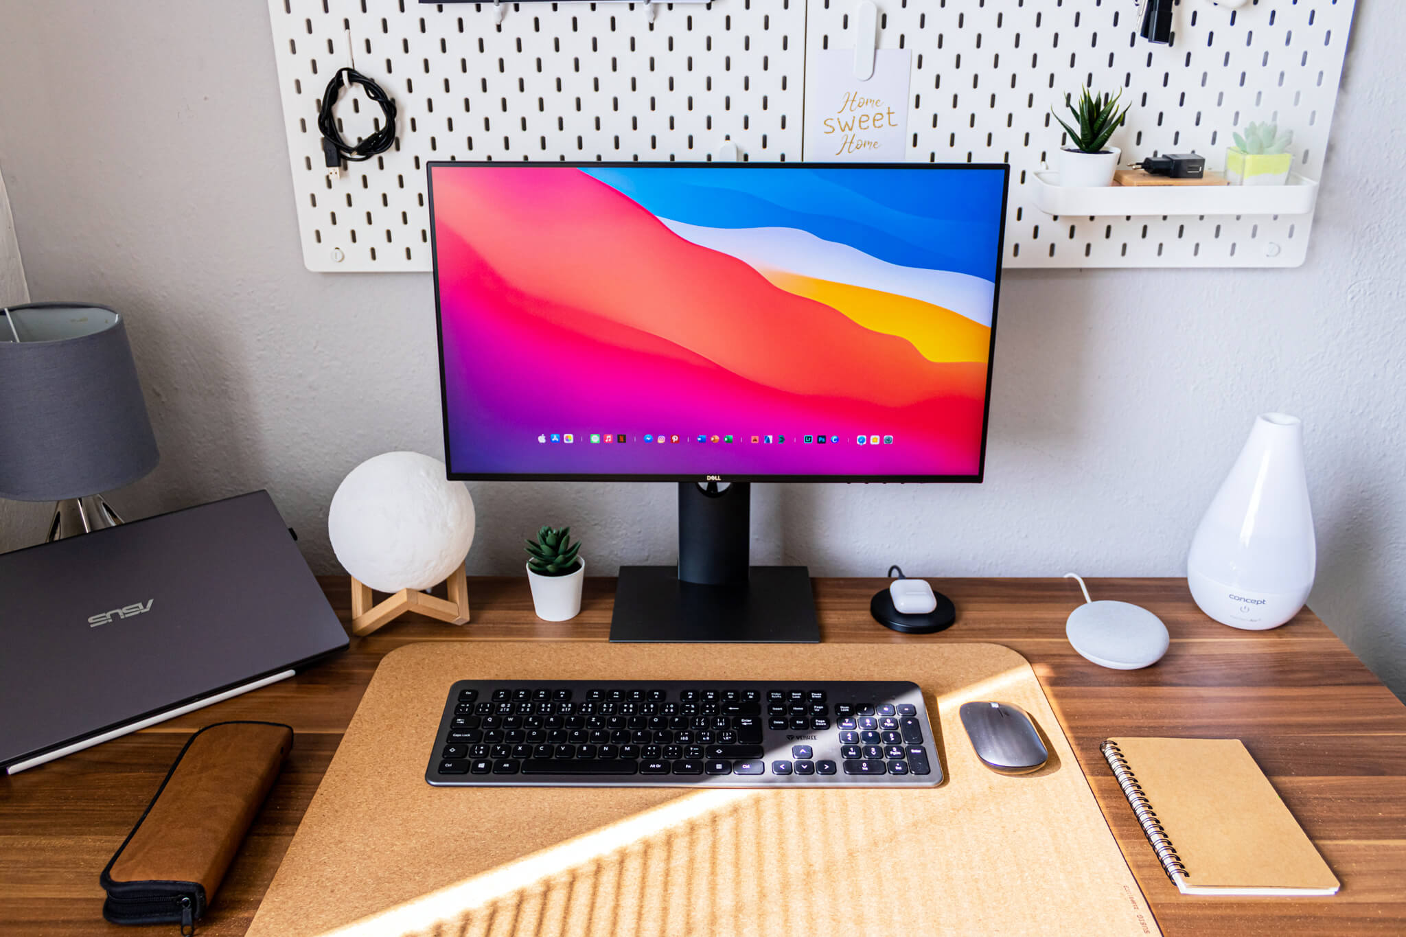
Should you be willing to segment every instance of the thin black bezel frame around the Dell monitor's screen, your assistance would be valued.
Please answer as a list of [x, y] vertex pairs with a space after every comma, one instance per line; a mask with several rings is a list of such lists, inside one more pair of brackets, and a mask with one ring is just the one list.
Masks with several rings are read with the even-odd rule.
[[[981, 450], [977, 457], [977, 471], [974, 475], [758, 475], [758, 473], [561, 473], [561, 472], [456, 472], [453, 450], [449, 438], [449, 385], [444, 379], [444, 322], [440, 305], [439, 278], [439, 250], [434, 229], [434, 170], [440, 167], [557, 167], [557, 169], [609, 169], [609, 167], [651, 167], [651, 169], [911, 169], [911, 170], [952, 170], [952, 169], [981, 169], [1002, 171], [1001, 183], [1001, 222], [995, 239], [995, 291], [991, 296], [991, 347], [987, 350], [986, 365], [986, 398], [981, 407]], [[425, 164], [426, 199], [430, 214], [430, 264], [434, 281], [434, 334], [439, 341], [440, 368], [440, 421], [444, 428], [444, 465], [451, 480], [461, 482], [869, 482], [869, 483], [905, 483], [905, 482], [938, 482], [938, 483], [972, 483], [980, 485], [986, 478], [986, 443], [991, 421], [991, 374], [995, 369], [995, 325], [997, 313], [1001, 308], [1001, 260], [1005, 253], [1005, 211], [1011, 197], [1011, 164], [1010, 163], [721, 163], [721, 162], [659, 162], [645, 163], [640, 160], [583, 160], [583, 162], [554, 162], [554, 160], [432, 160]]]

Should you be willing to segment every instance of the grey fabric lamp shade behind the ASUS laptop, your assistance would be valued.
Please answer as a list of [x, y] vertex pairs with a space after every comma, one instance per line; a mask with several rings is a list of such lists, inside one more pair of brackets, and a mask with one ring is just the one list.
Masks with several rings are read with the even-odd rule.
[[159, 458], [121, 316], [67, 302], [0, 309], [0, 497], [110, 492]]

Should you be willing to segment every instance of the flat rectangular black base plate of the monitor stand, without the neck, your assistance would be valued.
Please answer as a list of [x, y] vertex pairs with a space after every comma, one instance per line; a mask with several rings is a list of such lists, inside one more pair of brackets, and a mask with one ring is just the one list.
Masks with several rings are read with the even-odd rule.
[[752, 566], [745, 583], [703, 586], [681, 582], [676, 566], [621, 566], [610, 641], [818, 642], [810, 570]]

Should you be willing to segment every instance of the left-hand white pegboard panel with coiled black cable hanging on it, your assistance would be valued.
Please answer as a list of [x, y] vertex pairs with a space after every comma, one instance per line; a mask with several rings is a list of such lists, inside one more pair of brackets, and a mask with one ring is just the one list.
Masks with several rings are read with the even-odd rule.
[[[427, 160], [800, 159], [804, 0], [508, 6], [269, 0], [309, 270], [430, 270]], [[353, 56], [399, 139], [329, 181], [318, 107]], [[378, 115], [343, 91], [347, 139]]]

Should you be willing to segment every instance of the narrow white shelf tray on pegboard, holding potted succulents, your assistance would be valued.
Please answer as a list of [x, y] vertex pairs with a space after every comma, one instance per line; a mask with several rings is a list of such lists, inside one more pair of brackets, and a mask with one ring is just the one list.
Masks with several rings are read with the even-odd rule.
[[1059, 173], [1033, 173], [1035, 207], [1046, 215], [1308, 215], [1317, 183], [1291, 176], [1285, 185], [1101, 185], [1059, 184]]

